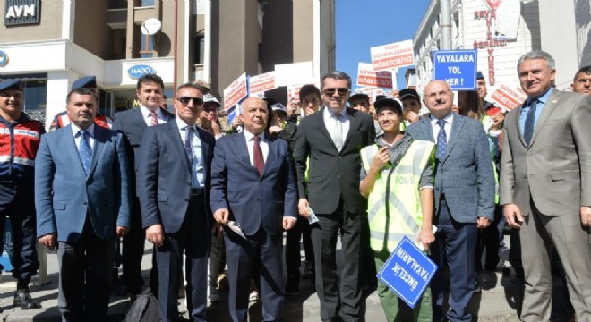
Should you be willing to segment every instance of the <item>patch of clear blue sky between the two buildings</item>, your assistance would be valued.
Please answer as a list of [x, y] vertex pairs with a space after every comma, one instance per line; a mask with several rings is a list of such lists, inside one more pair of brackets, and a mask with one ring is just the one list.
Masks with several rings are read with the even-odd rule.
[[[357, 83], [357, 64], [372, 63], [370, 47], [412, 39], [430, 0], [336, 0], [337, 70]], [[398, 69], [398, 89], [404, 73]]]

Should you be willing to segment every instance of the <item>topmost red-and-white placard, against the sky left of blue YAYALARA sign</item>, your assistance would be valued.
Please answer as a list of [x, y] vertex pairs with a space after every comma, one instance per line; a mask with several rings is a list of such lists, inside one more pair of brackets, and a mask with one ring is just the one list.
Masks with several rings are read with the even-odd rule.
[[374, 71], [390, 71], [394, 68], [415, 64], [412, 40], [371, 47], [370, 52], [372, 53]]

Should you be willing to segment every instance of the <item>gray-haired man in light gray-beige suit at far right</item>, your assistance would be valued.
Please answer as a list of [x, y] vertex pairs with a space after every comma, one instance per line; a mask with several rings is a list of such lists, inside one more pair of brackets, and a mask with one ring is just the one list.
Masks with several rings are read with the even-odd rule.
[[501, 205], [521, 239], [526, 280], [521, 320], [550, 319], [550, 262], [556, 250], [578, 321], [589, 321], [591, 97], [553, 89], [555, 73], [548, 53], [532, 51], [519, 58], [527, 100], [505, 118]]

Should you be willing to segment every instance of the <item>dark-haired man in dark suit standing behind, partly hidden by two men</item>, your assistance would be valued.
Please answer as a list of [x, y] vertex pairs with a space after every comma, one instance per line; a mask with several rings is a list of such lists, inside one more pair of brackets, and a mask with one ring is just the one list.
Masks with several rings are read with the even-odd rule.
[[[140, 107], [115, 114], [113, 130], [120, 131], [126, 139], [127, 157], [130, 160], [130, 180], [133, 182], [132, 191], [132, 229], [123, 239], [123, 280], [126, 292], [134, 300], [141, 293], [143, 279], [141, 278], [141, 257], [144, 250], [144, 233], [141, 229], [140, 200], [135, 193], [135, 172], [138, 169], [138, 155], [143, 132], [149, 126], [154, 126], [175, 118], [166, 109], [160, 108], [163, 102], [164, 82], [155, 74], [146, 74], [137, 82], [136, 95], [140, 100]], [[156, 290], [152, 290], [157, 292]]]

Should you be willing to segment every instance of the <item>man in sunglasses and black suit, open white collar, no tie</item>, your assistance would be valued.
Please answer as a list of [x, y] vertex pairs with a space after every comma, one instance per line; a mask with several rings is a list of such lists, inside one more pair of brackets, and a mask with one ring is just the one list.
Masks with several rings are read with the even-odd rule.
[[[347, 108], [351, 78], [344, 72], [322, 77], [320, 113], [304, 117], [298, 127], [294, 159], [299, 192], [298, 209], [319, 222], [312, 225], [316, 292], [322, 321], [364, 320], [363, 269], [360, 259], [371, 259], [367, 199], [359, 193], [359, 151], [375, 138], [369, 114]], [[309, 163], [309, 169], [308, 167]], [[306, 181], [306, 172], [309, 173]], [[337, 273], [337, 235], [341, 230], [343, 263]], [[373, 259], [371, 260], [373, 263]]]

